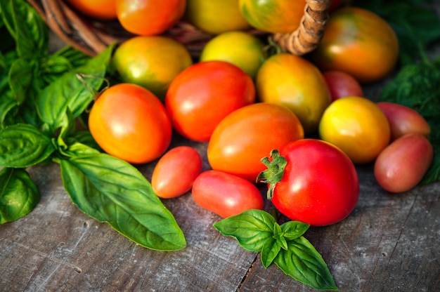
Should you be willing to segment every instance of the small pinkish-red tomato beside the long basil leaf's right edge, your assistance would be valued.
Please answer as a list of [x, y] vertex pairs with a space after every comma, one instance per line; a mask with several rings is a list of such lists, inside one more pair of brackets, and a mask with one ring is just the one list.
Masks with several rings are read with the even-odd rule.
[[157, 197], [179, 197], [202, 172], [202, 157], [193, 147], [179, 146], [165, 153], [153, 169], [151, 186]]

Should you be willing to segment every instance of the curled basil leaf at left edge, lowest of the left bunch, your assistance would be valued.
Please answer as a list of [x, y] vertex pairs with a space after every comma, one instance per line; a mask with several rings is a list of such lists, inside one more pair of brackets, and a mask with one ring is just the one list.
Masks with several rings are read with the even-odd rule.
[[0, 186], [0, 224], [24, 217], [40, 200], [37, 186], [25, 169], [3, 168]]

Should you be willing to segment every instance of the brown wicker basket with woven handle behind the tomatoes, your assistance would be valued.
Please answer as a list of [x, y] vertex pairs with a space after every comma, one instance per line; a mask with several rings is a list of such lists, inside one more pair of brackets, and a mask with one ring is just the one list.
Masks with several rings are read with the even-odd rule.
[[[120, 44], [134, 36], [117, 20], [91, 20], [72, 10], [63, 0], [28, 0], [28, 2], [43, 16], [48, 27], [60, 39], [88, 55], [96, 55], [112, 42], [116, 41]], [[323, 36], [330, 2], [330, 0], [306, 0], [301, 24], [295, 32], [273, 34], [273, 40], [283, 51], [295, 55], [304, 55], [313, 51]], [[255, 29], [251, 33], [267, 34]], [[203, 46], [213, 37], [186, 22], [177, 23], [163, 35], [184, 44], [194, 57], [200, 55]]]

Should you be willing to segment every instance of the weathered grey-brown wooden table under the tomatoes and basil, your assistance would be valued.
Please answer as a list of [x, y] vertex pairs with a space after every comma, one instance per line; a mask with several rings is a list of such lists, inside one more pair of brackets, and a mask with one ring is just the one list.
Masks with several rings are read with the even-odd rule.
[[[374, 99], [380, 86], [365, 88], [365, 95]], [[206, 143], [176, 135], [173, 145], [181, 144], [193, 145], [209, 168]], [[139, 166], [148, 180], [154, 165]], [[372, 165], [357, 170], [361, 194], [354, 212], [305, 234], [340, 291], [440, 291], [440, 183], [389, 194], [375, 182]], [[25, 218], [0, 226], [0, 291], [313, 291], [276, 265], [265, 269], [258, 253], [219, 234], [212, 224], [221, 218], [190, 194], [164, 200], [188, 246], [158, 252], [79, 211], [57, 164], [28, 171], [41, 201]]]

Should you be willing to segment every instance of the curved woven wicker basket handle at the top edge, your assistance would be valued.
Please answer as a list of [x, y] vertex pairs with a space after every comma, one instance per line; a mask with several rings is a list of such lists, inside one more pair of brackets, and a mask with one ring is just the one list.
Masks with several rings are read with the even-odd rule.
[[323, 38], [330, 4], [331, 0], [306, 0], [299, 27], [290, 34], [273, 34], [273, 41], [294, 55], [313, 51]]

